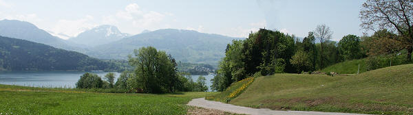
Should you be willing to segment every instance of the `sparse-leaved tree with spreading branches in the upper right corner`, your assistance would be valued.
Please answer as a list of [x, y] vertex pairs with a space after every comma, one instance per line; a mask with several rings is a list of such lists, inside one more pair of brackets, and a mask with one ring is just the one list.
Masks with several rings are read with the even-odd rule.
[[366, 30], [390, 29], [403, 36], [407, 60], [411, 62], [413, 51], [413, 1], [367, 0], [360, 11], [361, 27]]

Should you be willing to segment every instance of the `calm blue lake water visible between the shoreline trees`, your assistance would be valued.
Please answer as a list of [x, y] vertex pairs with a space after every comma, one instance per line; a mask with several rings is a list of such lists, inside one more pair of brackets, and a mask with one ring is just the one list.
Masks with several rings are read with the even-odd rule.
[[[49, 88], [75, 88], [78, 79], [85, 72], [76, 71], [30, 71], [30, 72], [0, 72], [0, 84], [49, 87]], [[104, 77], [108, 72], [90, 72]], [[120, 73], [115, 73], [115, 82]], [[200, 75], [191, 75], [196, 81]], [[211, 86], [213, 75], [203, 75], [207, 79], [207, 86]]]

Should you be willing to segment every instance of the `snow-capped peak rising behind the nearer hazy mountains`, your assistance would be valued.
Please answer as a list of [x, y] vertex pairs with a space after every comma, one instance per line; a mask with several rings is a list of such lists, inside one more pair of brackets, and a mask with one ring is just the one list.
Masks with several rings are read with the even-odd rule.
[[118, 27], [112, 25], [100, 25], [78, 34], [69, 40], [77, 44], [86, 44], [95, 47], [100, 44], [107, 44], [129, 36], [119, 31]]

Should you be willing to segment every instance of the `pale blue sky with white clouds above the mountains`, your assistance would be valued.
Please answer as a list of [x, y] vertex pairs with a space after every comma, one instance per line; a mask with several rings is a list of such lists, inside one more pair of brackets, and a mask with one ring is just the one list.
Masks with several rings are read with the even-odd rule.
[[[247, 38], [260, 28], [305, 37], [317, 25], [333, 31], [332, 40], [361, 36], [359, 11], [365, 0], [0, 0], [0, 20], [33, 23], [52, 34], [77, 36], [98, 25], [123, 33], [191, 29]], [[67, 38], [66, 38], [67, 39]]]

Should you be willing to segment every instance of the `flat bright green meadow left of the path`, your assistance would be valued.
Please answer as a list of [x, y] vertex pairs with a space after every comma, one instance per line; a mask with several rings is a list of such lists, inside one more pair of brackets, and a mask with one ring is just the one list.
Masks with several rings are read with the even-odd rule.
[[[209, 92], [208, 94], [216, 94]], [[187, 114], [205, 92], [115, 94], [0, 85], [1, 114]]]

